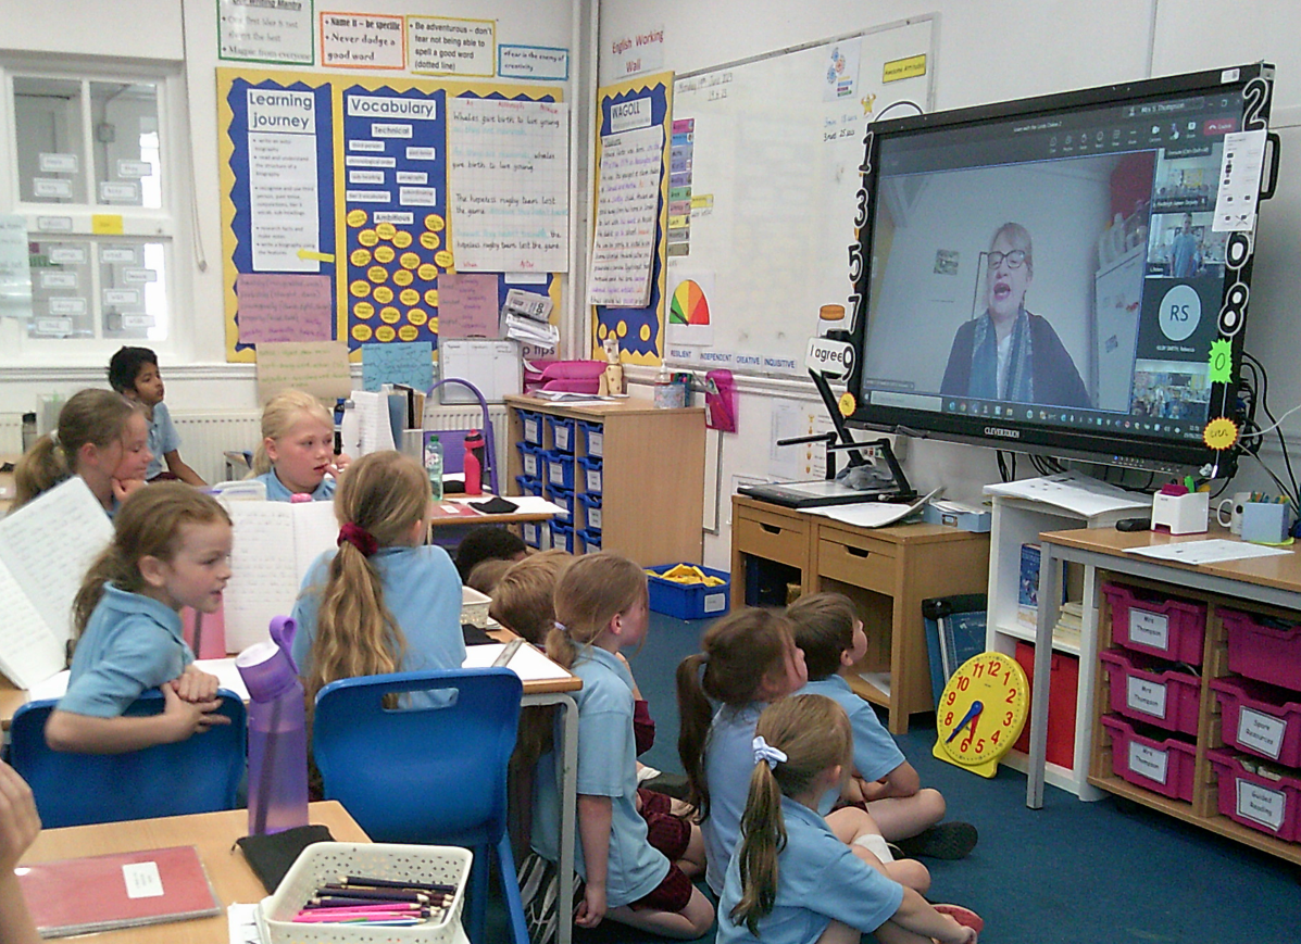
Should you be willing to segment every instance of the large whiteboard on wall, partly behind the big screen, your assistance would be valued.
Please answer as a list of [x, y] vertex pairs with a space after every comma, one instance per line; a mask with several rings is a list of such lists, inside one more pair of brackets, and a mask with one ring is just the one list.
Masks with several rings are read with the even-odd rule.
[[848, 326], [864, 131], [930, 111], [933, 39], [919, 17], [677, 77], [666, 360], [807, 376], [818, 308]]

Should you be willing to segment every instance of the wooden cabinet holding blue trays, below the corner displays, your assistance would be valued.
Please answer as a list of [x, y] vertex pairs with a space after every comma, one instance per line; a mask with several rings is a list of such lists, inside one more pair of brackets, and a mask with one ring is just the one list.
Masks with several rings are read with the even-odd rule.
[[[507, 494], [519, 494], [523, 473], [516, 443], [524, 441], [522, 411], [587, 423], [601, 434], [601, 549], [643, 567], [700, 563], [704, 551], [705, 411], [656, 410], [648, 400], [557, 404], [533, 397], [507, 397], [510, 454]], [[556, 447], [552, 424], [541, 423], [543, 449]], [[587, 455], [587, 437], [575, 430], [575, 458]], [[505, 482], [503, 482], [505, 485]], [[575, 494], [587, 490], [582, 468]], [[578, 503], [575, 501], [575, 503]], [[582, 510], [575, 518], [583, 521]], [[575, 549], [576, 550], [576, 549]]]

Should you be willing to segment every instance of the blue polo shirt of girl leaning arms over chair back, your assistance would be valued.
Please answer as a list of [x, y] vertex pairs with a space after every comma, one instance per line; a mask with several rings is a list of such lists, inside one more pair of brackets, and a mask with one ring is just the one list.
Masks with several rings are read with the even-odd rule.
[[181, 615], [152, 597], [104, 584], [73, 650], [60, 711], [117, 718], [151, 688], [178, 677], [194, 662], [181, 635]]

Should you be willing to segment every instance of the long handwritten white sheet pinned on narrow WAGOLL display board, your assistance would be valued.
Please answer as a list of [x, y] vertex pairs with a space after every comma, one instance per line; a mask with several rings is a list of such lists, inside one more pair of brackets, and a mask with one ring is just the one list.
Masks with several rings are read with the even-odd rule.
[[650, 300], [662, 173], [664, 126], [602, 139], [588, 304], [639, 308]]

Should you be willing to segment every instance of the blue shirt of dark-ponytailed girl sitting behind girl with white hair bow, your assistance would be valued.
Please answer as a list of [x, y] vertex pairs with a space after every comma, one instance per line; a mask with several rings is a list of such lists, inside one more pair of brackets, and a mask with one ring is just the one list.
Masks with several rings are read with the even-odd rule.
[[740, 840], [740, 817], [755, 772], [755, 726], [768, 702], [742, 707], [723, 705], [705, 739], [705, 783], [709, 784], [709, 817], [700, 823], [705, 840], [705, 880], [722, 895], [723, 874]]

